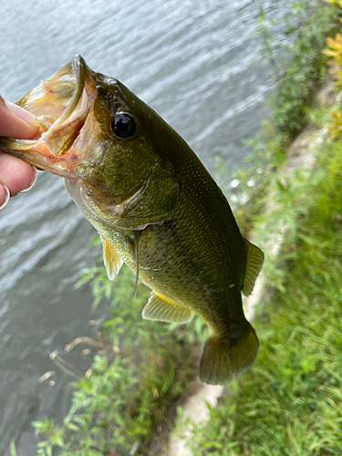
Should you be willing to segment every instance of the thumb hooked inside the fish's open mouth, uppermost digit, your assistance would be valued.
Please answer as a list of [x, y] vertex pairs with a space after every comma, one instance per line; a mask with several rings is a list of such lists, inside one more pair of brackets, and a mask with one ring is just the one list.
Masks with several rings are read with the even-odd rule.
[[0, 136], [30, 140], [38, 132], [36, 116], [0, 96]]

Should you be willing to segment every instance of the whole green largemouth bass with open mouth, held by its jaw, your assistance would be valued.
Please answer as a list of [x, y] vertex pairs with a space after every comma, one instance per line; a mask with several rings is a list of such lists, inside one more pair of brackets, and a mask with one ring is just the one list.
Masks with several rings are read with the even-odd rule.
[[36, 115], [32, 140], [0, 146], [65, 178], [98, 231], [109, 279], [123, 263], [150, 287], [148, 320], [209, 328], [202, 382], [227, 384], [254, 364], [244, 316], [263, 252], [244, 239], [223, 192], [181, 136], [116, 78], [75, 56], [16, 101]]

